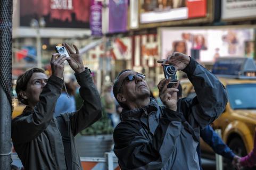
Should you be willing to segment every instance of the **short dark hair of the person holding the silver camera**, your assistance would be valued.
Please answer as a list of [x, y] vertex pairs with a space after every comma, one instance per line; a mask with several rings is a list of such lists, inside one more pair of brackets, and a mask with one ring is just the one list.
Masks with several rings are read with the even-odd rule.
[[33, 73], [45, 73], [45, 71], [43, 69], [39, 69], [36, 67], [29, 69], [23, 74], [21, 74], [16, 81], [15, 90], [16, 90], [17, 98], [21, 103], [25, 105], [28, 105], [28, 101], [27, 99], [22, 98], [22, 96], [20, 95], [20, 91], [25, 91], [27, 89], [28, 81], [32, 77]]

